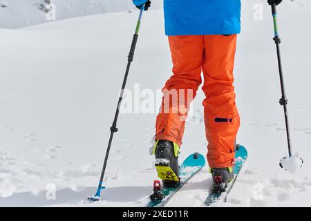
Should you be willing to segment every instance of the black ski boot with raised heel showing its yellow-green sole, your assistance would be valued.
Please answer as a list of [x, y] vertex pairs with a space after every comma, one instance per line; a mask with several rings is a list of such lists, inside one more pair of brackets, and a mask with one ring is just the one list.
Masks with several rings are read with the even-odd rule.
[[168, 140], [158, 140], [153, 149], [158, 177], [164, 187], [176, 187], [180, 184], [178, 151], [178, 144]]

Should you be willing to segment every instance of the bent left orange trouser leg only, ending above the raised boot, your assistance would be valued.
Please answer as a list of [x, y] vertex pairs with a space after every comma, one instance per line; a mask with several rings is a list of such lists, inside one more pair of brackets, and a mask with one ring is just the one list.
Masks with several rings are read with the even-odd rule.
[[169, 140], [180, 146], [189, 104], [196, 97], [196, 91], [202, 82], [203, 36], [169, 36], [169, 46], [173, 75], [162, 89], [162, 106], [156, 121], [156, 140]]

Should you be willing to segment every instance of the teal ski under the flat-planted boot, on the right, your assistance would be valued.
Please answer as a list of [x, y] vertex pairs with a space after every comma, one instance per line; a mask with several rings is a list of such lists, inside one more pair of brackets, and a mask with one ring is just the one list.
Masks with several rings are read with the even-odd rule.
[[236, 182], [236, 177], [238, 177], [238, 173], [240, 173], [241, 168], [247, 159], [247, 150], [244, 146], [237, 145], [236, 146], [236, 163], [234, 164], [234, 180], [227, 186], [227, 191], [223, 193], [209, 193], [209, 196], [205, 200], [205, 205], [210, 206], [211, 204], [214, 204], [215, 202], [226, 202], [227, 195], [231, 191], [232, 187], [234, 186], [234, 182]]

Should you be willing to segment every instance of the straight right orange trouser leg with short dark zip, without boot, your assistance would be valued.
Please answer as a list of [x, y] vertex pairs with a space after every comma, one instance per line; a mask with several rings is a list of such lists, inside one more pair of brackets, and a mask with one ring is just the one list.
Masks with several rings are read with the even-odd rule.
[[[240, 126], [234, 93], [234, 56], [237, 35], [205, 35], [203, 64], [206, 99], [207, 160], [212, 169], [233, 166], [235, 140]], [[228, 170], [230, 171], [230, 170]]]

